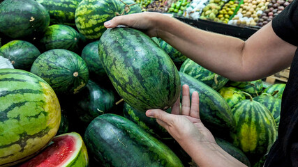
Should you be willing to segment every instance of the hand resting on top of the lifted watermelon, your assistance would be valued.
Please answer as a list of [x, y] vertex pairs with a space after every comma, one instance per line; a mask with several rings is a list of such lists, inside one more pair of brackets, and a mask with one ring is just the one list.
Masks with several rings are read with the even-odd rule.
[[119, 25], [129, 26], [134, 29], [139, 29], [150, 37], [158, 36], [157, 18], [161, 20], [167, 17], [160, 13], [135, 13], [131, 15], [121, 15], [105, 22], [106, 28], [114, 28]]

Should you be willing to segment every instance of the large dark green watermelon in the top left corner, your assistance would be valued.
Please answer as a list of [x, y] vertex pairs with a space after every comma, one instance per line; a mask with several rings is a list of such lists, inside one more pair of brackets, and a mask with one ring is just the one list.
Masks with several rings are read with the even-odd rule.
[[49, 24], [49, 13], [34, 0], [6, 0], [1, 3], [0, 32], [10, 38], [35, 40]]

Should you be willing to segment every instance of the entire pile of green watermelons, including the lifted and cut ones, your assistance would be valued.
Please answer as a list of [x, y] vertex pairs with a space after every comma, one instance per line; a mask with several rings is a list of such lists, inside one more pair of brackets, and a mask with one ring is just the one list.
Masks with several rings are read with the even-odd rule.
[[[230, 81], [131, 28], [132, 0], [0, 1], [0, 166], [193, 166], [147, 109], [188, 84], [226, 152], [262, 166], [285, 84]], [[122, 102], [124, 101], [124, 102]]]

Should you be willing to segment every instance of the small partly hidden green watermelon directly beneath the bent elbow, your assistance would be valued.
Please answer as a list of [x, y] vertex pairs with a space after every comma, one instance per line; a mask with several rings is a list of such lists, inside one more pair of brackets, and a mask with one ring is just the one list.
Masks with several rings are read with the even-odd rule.
[[262, 79], [256, 81], [230, 81], [228, 83], [230, 86], [239, 88], [240, 90], [249, 93], [253, 97], [260, 95], [263, 89]]

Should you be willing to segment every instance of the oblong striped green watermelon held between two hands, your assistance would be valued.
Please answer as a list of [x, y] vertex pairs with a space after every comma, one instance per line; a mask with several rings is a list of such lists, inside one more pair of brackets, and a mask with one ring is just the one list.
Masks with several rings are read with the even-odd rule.
[[165, 51], [141, 31], [108, 29], [100, 38], [98, 51], [114, 88], [133, 108], [165, 110], [179, 97], [177, 68]]

